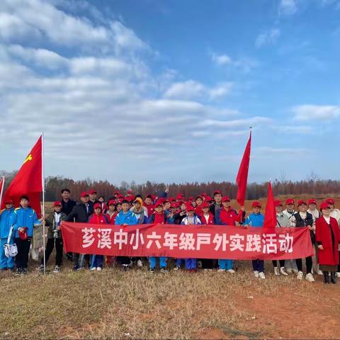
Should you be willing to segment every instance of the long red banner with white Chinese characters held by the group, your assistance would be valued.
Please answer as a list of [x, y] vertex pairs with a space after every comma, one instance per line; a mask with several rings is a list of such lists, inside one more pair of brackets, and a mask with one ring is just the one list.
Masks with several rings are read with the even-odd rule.
[[167, 256], [178, 259], [301, 259], [312, 255], [307, 228], [221, 225], [92, 225], [62, 223], [64, 250], [109, 256]]

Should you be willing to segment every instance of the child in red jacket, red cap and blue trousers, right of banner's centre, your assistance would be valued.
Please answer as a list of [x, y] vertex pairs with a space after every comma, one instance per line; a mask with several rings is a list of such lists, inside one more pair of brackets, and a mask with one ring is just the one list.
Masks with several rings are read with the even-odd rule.
[[[220, 193], [215, 192], [214, 198]], [[228, 196], [223, 196], [221, 200], [222, 208], [218, 209], [215, 213], [215, 222], [216, 225], [227, 225], [227, 226], [234, 226], [239, 225], [239, 223], [243, 222], [244, 216], [244, 208], [242, 207], [241, 210], [237, 213], [230, 205], [230, 198]], [[213, 206], [213, 205], [212, 205]], [[215, 211], [215, 208], [211, 209], [210, 212]], [[212, 212], [213, 213], [213, 212]], [[218, 260], [219, 272], [227, 272], [227, 273], [235, 273], [233, 266], [233, 261], [229, 259], [219, 259]]]

